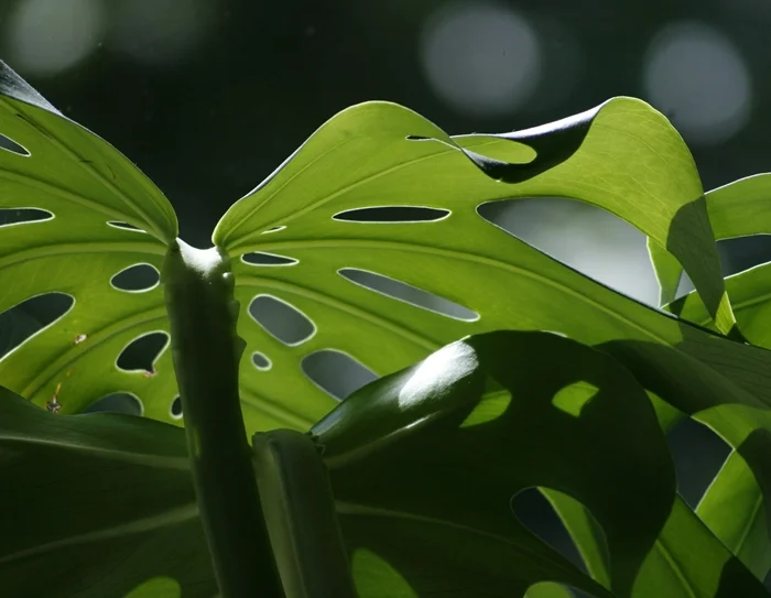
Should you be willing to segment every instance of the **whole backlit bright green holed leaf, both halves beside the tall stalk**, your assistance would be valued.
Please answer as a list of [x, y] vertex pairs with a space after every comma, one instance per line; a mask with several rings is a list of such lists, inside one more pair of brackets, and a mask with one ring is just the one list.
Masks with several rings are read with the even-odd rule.
[[[169, 331], [161, 289], [127, 291], [115, 276], [159, 267], [176, 235], [171, 207], [126, 157], [4, 65], [0, 83], [0, 203], [53, 215], [0, 230], [0, 281], [9, 281], [0, 309], [46, 293], [74, 300], [0, 361], [0, 383], [41, 405], [56, 396], [63, 413], [129, 393], [145, 415], [178, 423], [169, 351], [150, 371], [116, 365], [138, 338]], [[536, 129], [450, 138], [410, 110], [370, 102], [322, 127], [216, 228], [242, 305], [248, 428], [307, 428], [334, 407], [302, 374], [304, 359], [324, 349], [384, 374], [464, 335], [502, 327], [560, 329], [587, 343], [650, 336], [647, 311], [477, 213], [482, 202], [529, 195], [569, 196], [626, 218], [677, 257], [716, 326], [731, 328], [693, 160], [645, 104], [617, 98]], [[383, 221], [394, 206], [420, 217]], [[373, 291], [372, 281], [384, 278], [455, 311]], [[270, 322], [257, 325], [250, 314], [265, 325], [268, 304], [304, 314], [305, 331], [282, 341]]]

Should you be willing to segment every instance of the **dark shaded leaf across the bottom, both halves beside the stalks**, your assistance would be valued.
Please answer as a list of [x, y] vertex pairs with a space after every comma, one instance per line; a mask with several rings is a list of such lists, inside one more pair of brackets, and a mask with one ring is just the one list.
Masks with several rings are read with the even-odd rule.
[[[2, 399], [0, 498], [14, 517], [0, 523], [0, 586], [9, 596], [215, 594], [183, 431]], [[313, 435], [360, 598], [552, 598], [566, 587], [596, 598], [765, 596], [675, 498], [643, 388], [576, 341], [466, 338], [360, 389]], [[605, 580], [514, 517], [511, 499], [530, 487], [593, 517], [610, 564]]]

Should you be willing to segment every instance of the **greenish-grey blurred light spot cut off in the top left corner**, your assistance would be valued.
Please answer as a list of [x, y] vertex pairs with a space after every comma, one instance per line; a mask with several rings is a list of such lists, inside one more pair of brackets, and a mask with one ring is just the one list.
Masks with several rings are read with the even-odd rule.
[[54, 75], [86, 58], [104, 32], [99, 0], [25, 0], [6, 25], [7, 59], [24, 75]]

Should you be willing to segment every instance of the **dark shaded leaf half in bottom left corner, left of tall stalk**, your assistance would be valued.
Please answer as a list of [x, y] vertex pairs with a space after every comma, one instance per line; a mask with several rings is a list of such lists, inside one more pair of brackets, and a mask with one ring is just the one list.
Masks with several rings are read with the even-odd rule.
[[183, 431], [0, 394], [2, 596], [216, 594]]

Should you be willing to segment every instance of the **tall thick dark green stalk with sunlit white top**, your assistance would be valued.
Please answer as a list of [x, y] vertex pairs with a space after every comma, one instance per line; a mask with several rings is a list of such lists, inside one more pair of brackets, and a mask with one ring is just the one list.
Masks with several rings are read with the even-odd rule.
[[222, 598], [280, 598], [238, 394], [243, 341], [229, 261], [170, 246], [162, 281], [200, 518]]

